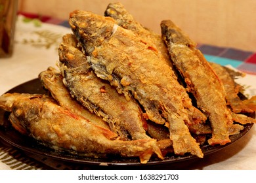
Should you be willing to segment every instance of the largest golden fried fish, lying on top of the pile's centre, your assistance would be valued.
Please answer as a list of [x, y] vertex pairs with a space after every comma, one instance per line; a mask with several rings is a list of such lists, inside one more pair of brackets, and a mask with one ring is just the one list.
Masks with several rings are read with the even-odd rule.
[[150, 120], [167, 122], [175, 154], [190, 152], [202, 158], [202, 150], [186, 126], [192, 124], [186, 108], [194, 107], [167, 63], [110, 17], [76, 10], [69, 22], [96, 75], [110, 81], [119, 93], [132, 94]]

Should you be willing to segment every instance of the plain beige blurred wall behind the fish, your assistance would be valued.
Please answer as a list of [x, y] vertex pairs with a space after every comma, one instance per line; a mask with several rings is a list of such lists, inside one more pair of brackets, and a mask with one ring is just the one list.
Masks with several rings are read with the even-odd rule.
[[170, 19], [198, 43], [256, 51], [255, 0], [19, 0], [19, 10], [68, 19], [75, 9], [103, 15], [117, 1], [157, 33]]

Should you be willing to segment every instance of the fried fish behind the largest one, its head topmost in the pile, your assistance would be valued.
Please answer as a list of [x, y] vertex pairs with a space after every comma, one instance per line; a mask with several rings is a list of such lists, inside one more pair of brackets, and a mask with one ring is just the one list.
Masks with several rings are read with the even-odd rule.
[[[161, 35], [146, 27], [143, 27], [135, 20], [135, 18], [133, 18], [133, 16], [121, 3], [110, 3], [104, 12], [104, 15], [114, 18], [119, 26], [123, 27], [124, 29], [131, 30], [135, 35], [138, 35], [140, 39], [142, 39], [142, 42], [148, 44], [149, 49], [158, 54], [158, 56], [160, 56], [161, 59], [163, 59], [163, 61], [165, 61], [167, 65], [171, 67], [169, 73], [172, 78], [174, 80], [178, 80], [178, 82], [182, 82], [180, 77], [177, 76], [177, 70], [175, 67], [173, 67], [169, 52], [165, 42], [163, 42], [163, 39], [161, 38]], [[186, 99], [186, 103], [188, 103], [188, 99]], [[188, 111], [190, 121], [194, 122], [194, 124], [205, 122], [205, 115], [197, 108], [190, 105], [190, 107], [186, 107], [186, 110]]]

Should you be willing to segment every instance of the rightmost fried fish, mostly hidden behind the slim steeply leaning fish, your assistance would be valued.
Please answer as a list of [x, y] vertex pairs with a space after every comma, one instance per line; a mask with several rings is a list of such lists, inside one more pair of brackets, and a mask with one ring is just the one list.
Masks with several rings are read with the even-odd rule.
[[235, 113], [239, 112], [253, 112], [249, 107], [244, 105], [240, 97], [238, 97], [238, 92], [240, 91], [239, 86], [236, 85], [234, 79], [223, 66], [217, 63], [210, 63], [213, 71], [219, 76], [221, 82], [223, 82], [224, 90], [226, 91], [226, 101], [228, 105], [232, 108]]

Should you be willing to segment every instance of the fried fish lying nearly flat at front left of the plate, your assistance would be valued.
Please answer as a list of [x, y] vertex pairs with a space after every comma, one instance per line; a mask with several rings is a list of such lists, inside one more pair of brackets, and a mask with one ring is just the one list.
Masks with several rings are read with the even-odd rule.
[[60, 107], [47, 95], [7, 93], [0, 101], [0, 107], [11, 112], [15, 129], [56, 150], [93, 158], [139, 157], [141, 163], [154, 153], [162, 158], [156, 140], [120, 141], [116, 133]]

